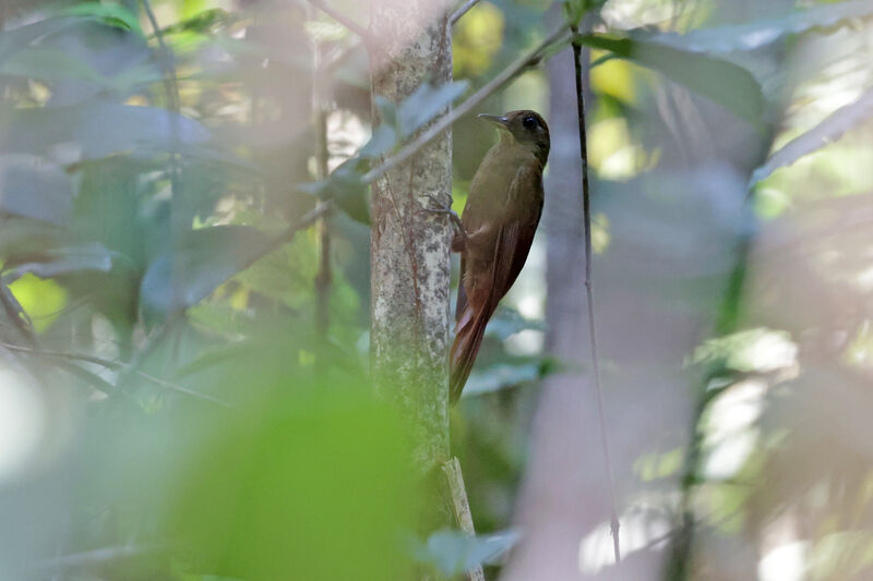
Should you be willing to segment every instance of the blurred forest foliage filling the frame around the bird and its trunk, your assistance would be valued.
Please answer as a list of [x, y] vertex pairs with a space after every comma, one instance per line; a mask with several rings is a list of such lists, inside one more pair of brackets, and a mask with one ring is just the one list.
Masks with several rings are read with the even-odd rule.
[[[476, 3], [393, 105], [366, 3], [2, 4], [0, 579], [871, 574], [873, 2], [563, 4]], [[473, 111], [546, 113], [547, 208], [452, 412], [480, 535], [424, 530], [368, 172], [567, 14], [614, 480], [564, 31]], [[492, 142], [453, 126], [458, 211]]]

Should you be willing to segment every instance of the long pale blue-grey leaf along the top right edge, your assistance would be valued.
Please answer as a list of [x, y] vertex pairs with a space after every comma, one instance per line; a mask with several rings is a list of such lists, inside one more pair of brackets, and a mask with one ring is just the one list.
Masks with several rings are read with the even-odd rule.
[[733, 52], [755, 50], [786, 36], [812, 29], [845, 26], [853, 19], [871, 15], [873, 15], [873, 2], [870, 0], [828, 2], [780, 19], [763, 19], [748, 24], [701, 28], [682, 35], [638, 32], [633, 34], [633, 38], [691, 52]]

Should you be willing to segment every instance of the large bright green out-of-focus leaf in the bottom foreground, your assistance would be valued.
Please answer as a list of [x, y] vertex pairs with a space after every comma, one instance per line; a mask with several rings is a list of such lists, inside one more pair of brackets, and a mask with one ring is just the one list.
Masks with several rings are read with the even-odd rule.
[[190, 547], [184, 568], [265, 581], [408, 579], [398, 540], [415, 486], [396, 413], [369, 390], [301, 392], [277, 379], [280, 370], [263, 376], [277, 397], [217, 422], [186, 463], [169, 511]]

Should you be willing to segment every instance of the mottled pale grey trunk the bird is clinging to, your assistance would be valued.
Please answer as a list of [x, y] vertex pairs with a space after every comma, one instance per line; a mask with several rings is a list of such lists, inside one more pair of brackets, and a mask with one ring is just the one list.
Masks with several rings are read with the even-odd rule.
[[[394, 104], [422, 82], [452, 78], [444, 10], [432, 0], [373, 3], [372, 94]], [[439, 3], [441, 4], [441, 3]], [[442, 7], [445, 8], [445, 7]], [[378, 112], [373, 112], [376, 119]], [[445, 132], [372, 186], [371, 360], [376, 390], [398, 404], [422, 472], [449, 456], [450, 244], [428, 196], [451, 201], [452, 142]]]

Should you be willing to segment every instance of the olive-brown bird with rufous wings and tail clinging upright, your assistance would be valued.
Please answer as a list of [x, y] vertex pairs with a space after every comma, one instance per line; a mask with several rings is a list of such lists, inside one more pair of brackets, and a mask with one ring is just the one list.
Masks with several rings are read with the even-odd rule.
[[455, 341], [450, 355], [450, 400], [457, 401], [482, 344], [485, 328], [527, 259], [542, 214], [542, 169], [549, 128], [534, 111], [479, 116], [500, 128], [500, 141], [470, 184], [461, 252]]

